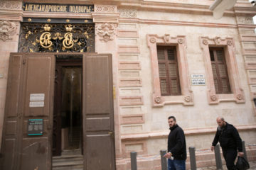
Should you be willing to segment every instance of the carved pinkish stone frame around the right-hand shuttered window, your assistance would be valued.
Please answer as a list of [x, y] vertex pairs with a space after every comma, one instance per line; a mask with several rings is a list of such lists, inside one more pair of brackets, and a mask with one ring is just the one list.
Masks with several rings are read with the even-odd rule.
[[[236, 103], [245, 103], [244, 91], [242, 90], [239, 81], [238, 64], [235, 59], [235, 45], [233, 38], [222, 39], [220, 37], [200, 37], [199, 39], [206, 65], [208, 103], [218, 104], [220, 101], [235, 101]], [[223, 47], [224, 49], [231, 94], [216, 94], [215, 92], [209, 47]]]

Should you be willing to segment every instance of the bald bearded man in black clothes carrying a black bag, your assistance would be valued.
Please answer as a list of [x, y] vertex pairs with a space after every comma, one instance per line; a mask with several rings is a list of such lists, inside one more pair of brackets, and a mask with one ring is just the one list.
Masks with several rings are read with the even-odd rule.
[[237, 155], [239, 157], [244, 155], [242, 152], [242, 140], [238, 130], [233, 125], [225, 122], [224, 118], [218, 117], [216, 121], [218, 128], [210, 149], [213, 151], [217, 143], [220, 142], [228, 170], [235, 169], [235, 158]]

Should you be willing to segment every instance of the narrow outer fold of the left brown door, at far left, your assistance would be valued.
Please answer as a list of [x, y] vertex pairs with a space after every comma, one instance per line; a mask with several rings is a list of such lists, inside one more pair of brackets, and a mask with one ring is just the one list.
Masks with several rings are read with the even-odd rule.
[[4, 128], [1, 145], [0, 169], [18, 169], [18, 145], [21, 140], [20, 91], [22, 83], [23, 55], [11, 55], [6, 91]]

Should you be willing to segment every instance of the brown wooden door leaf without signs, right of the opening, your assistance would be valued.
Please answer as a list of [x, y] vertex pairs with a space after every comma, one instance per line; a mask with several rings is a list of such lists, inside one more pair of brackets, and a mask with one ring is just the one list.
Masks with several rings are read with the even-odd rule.
[[115, 169], [111, 55], [85, 55], [82, 70], [86, 170]]

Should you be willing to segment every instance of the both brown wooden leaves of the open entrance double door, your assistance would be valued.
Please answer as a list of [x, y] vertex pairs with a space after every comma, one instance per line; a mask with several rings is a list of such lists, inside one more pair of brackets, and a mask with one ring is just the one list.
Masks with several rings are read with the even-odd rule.
[[[56, 55], [68, 54], [10, 56], [0, 169], [51, 169]], [[115, 169], [113, 113], [111, 55], [82, 54], [84, 169]], [[30, 120], [42, 135], [28, 135]]]

